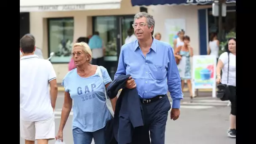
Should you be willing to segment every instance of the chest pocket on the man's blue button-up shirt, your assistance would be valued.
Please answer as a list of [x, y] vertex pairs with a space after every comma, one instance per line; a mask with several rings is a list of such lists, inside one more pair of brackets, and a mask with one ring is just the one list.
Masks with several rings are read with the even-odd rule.
[[165, 65], [155, 65], [152, 64], [152, 77], [156, 80], [163, 80], [167, 74], [167, 69]]

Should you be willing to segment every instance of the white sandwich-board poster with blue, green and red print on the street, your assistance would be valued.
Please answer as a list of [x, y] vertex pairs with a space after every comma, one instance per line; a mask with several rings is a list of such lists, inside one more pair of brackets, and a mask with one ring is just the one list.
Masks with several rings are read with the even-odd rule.
[[193, 93], [195, 89], [211, 88], [216, 97], [216, 56], [193, 56], [193, 78]]

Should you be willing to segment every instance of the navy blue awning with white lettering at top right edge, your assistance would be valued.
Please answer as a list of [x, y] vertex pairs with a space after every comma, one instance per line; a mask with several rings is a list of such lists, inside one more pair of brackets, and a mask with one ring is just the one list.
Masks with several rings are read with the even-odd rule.
[[[142, 5], [205, 5], [214, 0], [131, 0], [133, 6]], [[226, 0], [226, 3], [236, 3], [236, 0]]]

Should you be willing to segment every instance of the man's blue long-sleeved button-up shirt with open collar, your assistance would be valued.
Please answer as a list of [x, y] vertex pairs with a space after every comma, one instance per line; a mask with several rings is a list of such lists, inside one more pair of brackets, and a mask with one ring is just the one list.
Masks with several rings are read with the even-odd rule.
[[169, 91], [173, 100], [172, 108], [180, 108], [183, 99], [181, 78], [168, 43], [153, 39], [146, 57], [139, 48], [138, 40], [123, 45], [115, 78], [118, 75], [131, 75], [143, 99], [164, 95]]

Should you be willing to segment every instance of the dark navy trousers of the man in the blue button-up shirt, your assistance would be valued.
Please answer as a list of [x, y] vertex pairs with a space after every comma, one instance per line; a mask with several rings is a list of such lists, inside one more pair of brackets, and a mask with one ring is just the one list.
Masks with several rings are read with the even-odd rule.
[[171, 104], [168, 96], [149, 103], [142, 104], [144, 131], [150, 132], [151, 144], [165, 144], [165, 126]]

